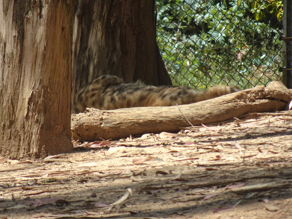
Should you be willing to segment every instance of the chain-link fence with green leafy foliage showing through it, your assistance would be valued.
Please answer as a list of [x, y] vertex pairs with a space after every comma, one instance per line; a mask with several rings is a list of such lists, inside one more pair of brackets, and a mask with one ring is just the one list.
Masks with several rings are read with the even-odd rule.
[[157, 0], [157, 41], [174, 85], [279, 81], [281, 0]]

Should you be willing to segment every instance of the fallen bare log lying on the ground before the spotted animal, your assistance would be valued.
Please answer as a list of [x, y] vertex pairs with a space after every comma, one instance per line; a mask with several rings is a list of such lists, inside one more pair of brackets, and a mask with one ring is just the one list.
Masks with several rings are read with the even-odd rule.
[[91, 108], [84, 113], [72, 114], [72, 138], [84, 142], [99, 138], [126, 138], [143, 133], [177, 132], [190, 126], [190, 123], [197, 126], [251, 112], [283, 110], [291, 99], [292, 92], [281, 82], [271, 82], [267, 87], [256, 86], [188, 105], [103, 111]]

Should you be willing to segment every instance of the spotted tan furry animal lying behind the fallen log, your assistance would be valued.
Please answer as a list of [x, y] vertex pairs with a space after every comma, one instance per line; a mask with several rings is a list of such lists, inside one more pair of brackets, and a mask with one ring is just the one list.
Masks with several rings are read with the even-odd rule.
[[73, 112], [86, 108], [101, 110], [190, 104], [240, 91], [237, 86], [215, 86], [196, 91], [185, 86], [149, 86], [141, 82], [125, 84], [117, 76], [103, 75], [87, 84], [74, 98]]

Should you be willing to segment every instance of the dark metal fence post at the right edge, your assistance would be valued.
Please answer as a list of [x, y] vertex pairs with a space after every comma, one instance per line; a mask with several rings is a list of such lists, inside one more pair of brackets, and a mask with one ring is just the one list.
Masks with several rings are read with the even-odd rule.
[[283, 0], [282, 67], [283, 83], [292, 88], [292, 0]]

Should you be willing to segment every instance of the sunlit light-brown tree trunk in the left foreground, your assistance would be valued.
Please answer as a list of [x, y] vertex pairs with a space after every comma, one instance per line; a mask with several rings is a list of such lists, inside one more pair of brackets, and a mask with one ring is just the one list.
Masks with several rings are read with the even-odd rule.
[[72, 150], [73, 1], [0, 0], [0, 155]]

